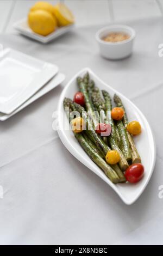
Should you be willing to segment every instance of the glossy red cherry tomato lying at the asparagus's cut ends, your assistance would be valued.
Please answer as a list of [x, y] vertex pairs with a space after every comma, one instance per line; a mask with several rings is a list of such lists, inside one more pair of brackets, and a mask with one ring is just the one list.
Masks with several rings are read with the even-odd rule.
[[141, 180], [144, 174], [144, 167], [141, 163], [133, 163], [129, 166], [124, 174], [126, 176], [127, 181], [130, 183], [137, 183]]

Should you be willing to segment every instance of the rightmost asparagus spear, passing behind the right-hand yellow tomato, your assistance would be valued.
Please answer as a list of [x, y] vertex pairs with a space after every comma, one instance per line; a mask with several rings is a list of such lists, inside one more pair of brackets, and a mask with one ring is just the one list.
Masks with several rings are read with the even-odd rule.
[[[118, 107], [121, 107], [124, 110], [123, 124], [126, 127], [128, 124], [128, 118], [127, 118], [127, 114], [126, 114], [125, 108], [123, 106], [123, 103], [122, 103], [120, 97], [116, 94], [114, 95], [114, 101]], [[133, 136], [130, 135], [130, 133], [128, 131], [127, 131], [127, 137], [128, 137], [128, 140], [130, 143], [130, 148], [131, 148], [132, 163], [141, 163], [141, 158], [136, 149]]]

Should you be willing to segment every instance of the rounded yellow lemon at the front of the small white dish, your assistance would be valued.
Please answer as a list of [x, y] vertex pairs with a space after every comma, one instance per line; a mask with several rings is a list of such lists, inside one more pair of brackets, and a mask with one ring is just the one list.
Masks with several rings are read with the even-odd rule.
[[57, 27], [57, 21], [53, 15], [45, 10], [30, 11], [28, 23], [35, 33], [45, 36], [54, 32]]

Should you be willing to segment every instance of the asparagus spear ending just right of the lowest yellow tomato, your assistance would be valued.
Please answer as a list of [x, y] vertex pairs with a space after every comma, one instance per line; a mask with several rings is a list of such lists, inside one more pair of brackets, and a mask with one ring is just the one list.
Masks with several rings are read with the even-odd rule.
[[127, 162], [125, 156], [123, 155], [121, 149], [118, 147], [115, 125], [114, 125], [114, 121], [111, 118], [111, 109], [112, 109], [111, 99], [110, 99], [108, 92], [106, 92], [105, 90], [102, 90], [102, 94], [103, 94], [103, 97], [105, 100], [106, 121], [107, 121], [107, 123], [109, 123], [111, 125], [111, 135], [108, 137], [109, 143], [111, 145], [111, 148], [113, 150], [117, 150], [118, 153], [120, 154], [121, 160], [120, 160], [119, 164], [120, 164], [121, 169], [124, 171], [128, 167], [128, 162]]

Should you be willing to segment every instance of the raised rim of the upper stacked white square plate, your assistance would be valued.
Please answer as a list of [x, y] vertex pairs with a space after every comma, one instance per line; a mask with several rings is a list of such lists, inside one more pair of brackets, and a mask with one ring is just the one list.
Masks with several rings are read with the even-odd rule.
[[26, 88], [24, 88], [24, 90], [18, 92], [14, 97], [11, 98], [11, 100], [5, 103], [0, 103], [0, 112], [10, 114], [17, 107], [22, 105], [23, 102], [29, 99], [30, 96], [35, 94], [37, 90], [39, 90], [45, 83], [51, 80], [51, 78], [57, 74], [58, 66], [48, 62], [43, 62], [42, 60], [24, 54], [20, 51], [16, 51], [12, 48], [6, 48], [3, 52], [4, 56], [8, 56], [8, 54], [13, 52], [14, 54], [18, 54], [18, 56], [21, 56], [22, 62], [24, 63], [26, 63], [26, 60], [28, 60], [28, 62], [31, 61], [32, 63], [34, 61], [40, 63], [42, 66], [40, 72], [35, 74], [32, 82]]

